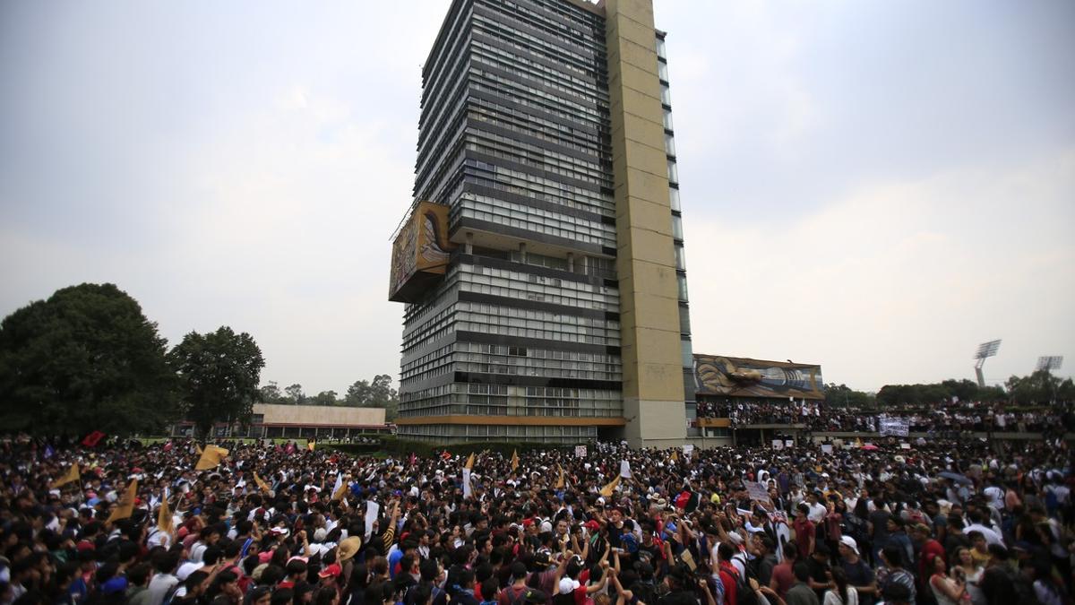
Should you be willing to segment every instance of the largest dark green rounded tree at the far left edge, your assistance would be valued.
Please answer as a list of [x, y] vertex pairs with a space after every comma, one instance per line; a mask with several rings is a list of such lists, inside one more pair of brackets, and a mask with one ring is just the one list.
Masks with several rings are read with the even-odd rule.
[[0, 322], [5, 432], [154, 433], [177, 418], [167, 341], [114, 284], [64, 287]]

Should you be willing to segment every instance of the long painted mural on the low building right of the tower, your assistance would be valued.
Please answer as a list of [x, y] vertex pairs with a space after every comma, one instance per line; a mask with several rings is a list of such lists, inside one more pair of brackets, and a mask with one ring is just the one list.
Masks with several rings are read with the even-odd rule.
[[701, 395], [823, 399], [821, 366], [720, 355], [694, 355]]

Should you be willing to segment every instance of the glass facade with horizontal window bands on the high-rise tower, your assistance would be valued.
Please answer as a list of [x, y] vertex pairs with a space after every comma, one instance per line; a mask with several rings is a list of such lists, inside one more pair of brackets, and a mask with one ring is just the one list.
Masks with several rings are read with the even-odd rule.
[[[655, 44], [686, 358], [663, 33]], [[444, 279], [404, 311], [399, 434], [596, 438], [597, 424], [615, 423], [555, 419], [624, 417], [604, 17], [571, 0], [455, 0], [422, 80], [414, 200], [449, 208], [458, 248]], [[549, 421], [406, 421], [448, 416]]]

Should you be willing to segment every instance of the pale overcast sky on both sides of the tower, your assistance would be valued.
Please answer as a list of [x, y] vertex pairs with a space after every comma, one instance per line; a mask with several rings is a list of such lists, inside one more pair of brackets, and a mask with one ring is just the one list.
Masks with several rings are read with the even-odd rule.
[[[1075, 2], [657, 0], [694, 352], [1075, 364]], [[388, 237], [447, 8], [0, 3], [0, 315], [114, 282], [307, 394], [399, 372]]]

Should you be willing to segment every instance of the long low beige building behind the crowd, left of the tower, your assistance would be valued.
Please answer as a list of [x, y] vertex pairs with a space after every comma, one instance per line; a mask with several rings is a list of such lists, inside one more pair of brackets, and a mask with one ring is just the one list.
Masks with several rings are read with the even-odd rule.
[[[172, 427], [174, 437], [189, 437], [192, 432], [190, 422]], [[388, 434], [391, 425], [385, 422], [384, 408], [255, 404], [249, 426], [218, 423], [213, 433], [216, 437], [349, 439]]]

